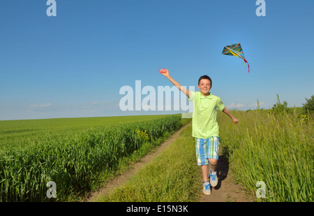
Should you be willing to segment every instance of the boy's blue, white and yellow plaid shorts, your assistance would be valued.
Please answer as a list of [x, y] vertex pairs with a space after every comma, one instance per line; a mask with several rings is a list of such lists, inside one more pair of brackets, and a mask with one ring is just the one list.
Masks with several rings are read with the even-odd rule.
[[195, 138], [195, 150], [197, 165], [209, 164], [208, 159], [218, 159], [219, 138], [218, 136], [211, 136], [207, 139]]

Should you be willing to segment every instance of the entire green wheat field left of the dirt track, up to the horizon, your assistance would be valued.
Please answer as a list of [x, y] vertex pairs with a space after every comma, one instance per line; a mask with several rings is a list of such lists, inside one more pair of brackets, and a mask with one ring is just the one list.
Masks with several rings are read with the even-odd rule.
[[0, 201], [56, 200], [50, 181], [57, 200], [71, 200], [179, 127], [180, 115], [0, 121]]

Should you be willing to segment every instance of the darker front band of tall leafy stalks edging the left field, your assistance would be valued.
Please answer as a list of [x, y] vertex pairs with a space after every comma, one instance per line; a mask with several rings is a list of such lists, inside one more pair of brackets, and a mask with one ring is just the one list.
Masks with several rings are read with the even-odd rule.
[[[3, 150], [0, 201], [67, 201], [69, 196], [89, 191], [101, 173], [116, 169], [122, 158], [143, 143], [179, 129], [180, 120], [170, 116], [73, 134], [46, 134], [23, 143], [22, 149]], [[57, 185], [57, 199], [46, 196], [50, 181]]]

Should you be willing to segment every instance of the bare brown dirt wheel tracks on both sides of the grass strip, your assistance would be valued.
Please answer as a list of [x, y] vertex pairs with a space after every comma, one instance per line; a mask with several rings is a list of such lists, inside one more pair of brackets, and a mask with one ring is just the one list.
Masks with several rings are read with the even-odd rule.
[[[131, 175], [135, 173], [139, 168], [141, 168], [144, 164], [147, 164], [149, 161], [154, 159], [160, 152], [165, 150], [165, 148], [170, 145], [176, 138], [178, 138], [181, 131], [188, 127], [187, 124], [179, 131], [175, 132], [171, 138], [169, 138], [165, 143], [160, 145], [158, 149], [141, 159], [141, 161], [137, 162], [130, 171], [124, 173], [123, 175], [119, 175], [117, 178], [114, 178], [111, 182], [108, 182], [103, 189], [98, 190], [97, 192], [92, 192], [87, 197], [87, 201], [95, 201], [99, 196], [105, 196], [115, 187], [119, 187], [124, 185], [124, 183], [130, 178]], [[229, 166], [227, 164], [227, 160], [223, 155], [219, 156], [218, 166], [217, 166], [217, 175], [218, 175], [218, 185], [211, 189], [211, 195], [203, 195], [201, 202], [227, 202], [227, 201], [237, 201], [237, 202], [248, 202], [251, 199], [244, 194], [244, 189], [241, 188], [240, 185], [234, 184], [234, 181], [231, 179], [230, 175], [228, 175]]]

